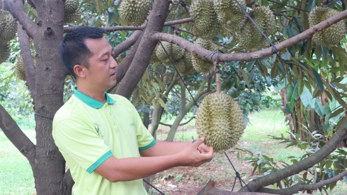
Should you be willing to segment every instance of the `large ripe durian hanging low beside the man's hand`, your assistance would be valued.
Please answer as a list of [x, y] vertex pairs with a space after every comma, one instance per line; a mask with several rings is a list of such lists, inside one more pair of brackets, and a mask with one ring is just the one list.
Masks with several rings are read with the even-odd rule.
[[245, 128], [244, 115], [238, 103], [227, 94], [207, 95], [196, 111], [197, 135], [215, 151], [234, 147]]

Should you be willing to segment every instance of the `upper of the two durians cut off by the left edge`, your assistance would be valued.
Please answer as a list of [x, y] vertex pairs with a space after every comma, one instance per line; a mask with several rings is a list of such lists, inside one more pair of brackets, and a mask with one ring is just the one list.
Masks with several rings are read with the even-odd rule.
[[0, 10], [0, 42], [8, 42], [16, 36], [17, 20], [9, 11]]

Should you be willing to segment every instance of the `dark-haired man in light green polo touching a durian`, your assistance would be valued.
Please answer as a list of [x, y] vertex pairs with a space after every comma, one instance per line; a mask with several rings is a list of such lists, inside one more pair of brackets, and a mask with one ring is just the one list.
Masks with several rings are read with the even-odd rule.
[[106, 93], [116, 84], [117, 63], [103, 33], [78, 28], [59, 48], [78, 87], [54, 116], [53, 138], [70, 167], [75, 194], [146, 194], [142, 178], [211, 161], [213, 149], [204, 138], [156, 142], [125, 97]]

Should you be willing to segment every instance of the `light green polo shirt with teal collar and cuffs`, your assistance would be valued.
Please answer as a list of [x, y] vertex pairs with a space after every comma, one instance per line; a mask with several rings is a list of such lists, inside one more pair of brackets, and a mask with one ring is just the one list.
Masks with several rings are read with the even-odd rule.
[[112, 183], [94, 172], [110, 156], [140, 157], [155, 139], [135, 107], [120, 95], [105, 93], [102, 103], [75, 88], [53, 119], [53, 138], [69, 165], [79, 194], [147, 194], [142, 179]]

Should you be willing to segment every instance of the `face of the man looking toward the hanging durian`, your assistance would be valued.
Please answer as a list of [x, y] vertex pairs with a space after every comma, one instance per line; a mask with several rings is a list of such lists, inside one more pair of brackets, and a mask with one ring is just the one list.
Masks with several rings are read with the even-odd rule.
[[89, 58], [86, 80], [91, 87], [106, 91], [117, 83], [118, 64], [112, 57], [113, 48], [105, 37], [86, 39], [85, 44], [93, 53]]

